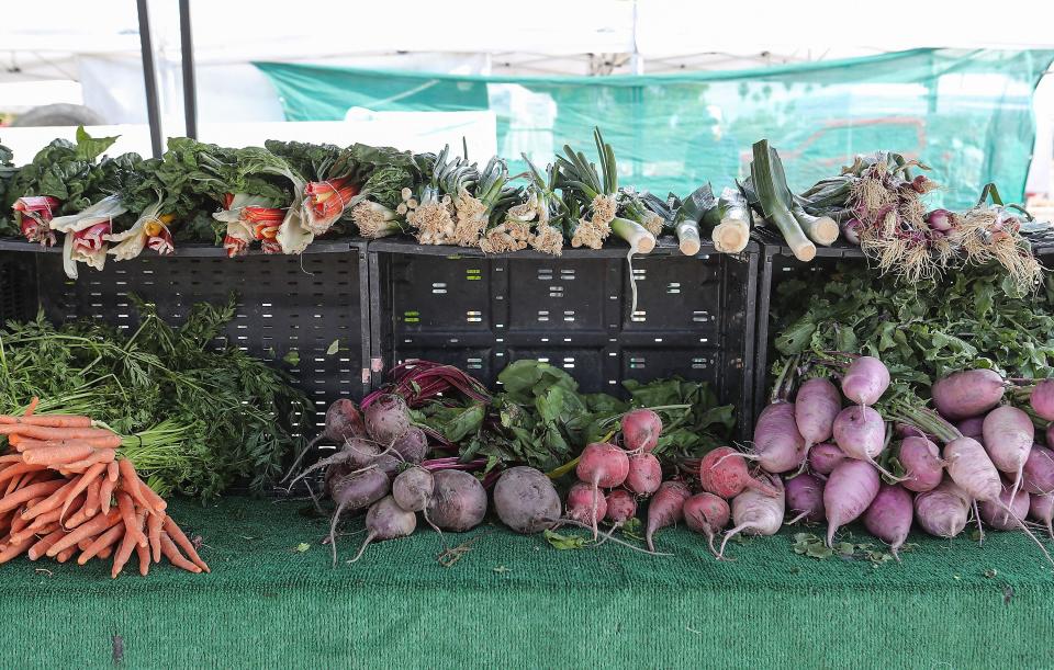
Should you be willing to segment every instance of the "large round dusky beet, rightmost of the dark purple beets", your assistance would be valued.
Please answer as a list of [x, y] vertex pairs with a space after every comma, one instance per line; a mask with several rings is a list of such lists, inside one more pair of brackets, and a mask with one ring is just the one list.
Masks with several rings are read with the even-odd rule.
[[517, 533], [540, 533], [560, 519], [560, 493], [540, 470], [513, 467], [494, 485], [494, 511]]

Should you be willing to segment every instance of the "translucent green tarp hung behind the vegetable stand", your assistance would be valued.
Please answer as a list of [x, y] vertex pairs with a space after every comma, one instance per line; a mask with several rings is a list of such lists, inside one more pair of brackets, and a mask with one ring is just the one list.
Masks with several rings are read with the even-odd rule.
[[1022, 198], [1032, 95], [1052, 59], [1049, 50], [916, 49], [751, 70], [564, 78], [255, 65], [289, 121], [343, 120], [351, 107], [490, 111], [498, 152], [517, 170], [520, 154], [543, 164], [565, 143], [592, 154], [599, 125], [620, 181], [684, 194], [743, 177], [751, 144], [767, 137], [795, 190], [837, 173], [855, 154], [890, 149], [924, 159], [948, 186], [934, 204], [960, 207], [989, 181], [1005, 197]]

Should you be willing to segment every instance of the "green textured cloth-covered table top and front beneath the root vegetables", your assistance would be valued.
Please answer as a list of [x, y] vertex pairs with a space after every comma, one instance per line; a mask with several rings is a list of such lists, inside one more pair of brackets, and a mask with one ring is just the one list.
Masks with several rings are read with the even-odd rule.
[[[452, 567], [438, 536], [371, 546], [348, 565], [299, 501], [175, 500], [211, 575], [110, 564], [0, 570], [3, 667], [1049, 667], [1054, 570], [1020, 533], [912, 536], [904, 565], [816, 560], [793, 532], [729, 543], [660, 531], [651, 557], [605, 545], [557, 550], [484, 524]], [[310, 545], [310, 546], [304, 546]], [[134, 568], [134, 563], [128, 568]], [[47, 571], [45, 571], [47, 570]]]

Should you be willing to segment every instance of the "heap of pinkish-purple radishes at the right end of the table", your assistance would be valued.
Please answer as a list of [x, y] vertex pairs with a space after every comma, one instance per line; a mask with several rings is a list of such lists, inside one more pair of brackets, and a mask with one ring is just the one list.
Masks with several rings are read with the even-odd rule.
[[[782, 496], [770, 489], [773, 480], [754, 479], [733, 499], [733, 532], [774, 534], [786, 510], [788, 523], [826, 519], [830, 545], [839, 527], [862, 519], [897, 556], [912, 522], [932, 535], [953, 537], [966, 526], [972, 508], [978, 524], [1019, 527], [1032, 536], [1022, 522], [1031, 513], [1050, 530], [1054, 453], [1033, 444], [1027, 412], [1000, 405], [1007, 384], [998, 373], [971, 370], [940, 379], [932, 387], [937, 412], [893, 404], [888, 418], [898, 422], [901, 438], [895, 447], [900, 477], [877, 463], [889, 439], [886, 421], [871, 407], [889, 386], [888, 370], [875, 357], [853, 356], [840, 385], [841, 393], [830, 379], [808, 379], [793, 402], [776, 401], [762, 411], [753, 455], [729, 450], [727, 461], [715, 457], [720, 461], [709, 473], [713, 455], [704, 459], [704, 487], [708, 478], [728, 477], [733, 467], [738, 480], [745, 458], [784, 476]], [[1054, 420], [1054, 381], [1035, 385], [1031, 400], [1036, 415]], [[944, 443], [943, 452], [933, 440]]]

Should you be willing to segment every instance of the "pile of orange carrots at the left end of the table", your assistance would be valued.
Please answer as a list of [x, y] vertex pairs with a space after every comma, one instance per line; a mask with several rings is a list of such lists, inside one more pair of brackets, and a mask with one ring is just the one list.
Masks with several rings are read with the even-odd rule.
[[[139, 574], [161, 557], [191, 572], [209, 571], [193, 543], [165, 513], [165, 500], [117, 458], [121, 436], [89, 417], [0, 416], [13, 451], [0, 456], [0, 564], [26, 554], [78, 565], [113, 556], [116, 578], [135, 552]], [[186, 552], [186, 555], [180, 552]]]

